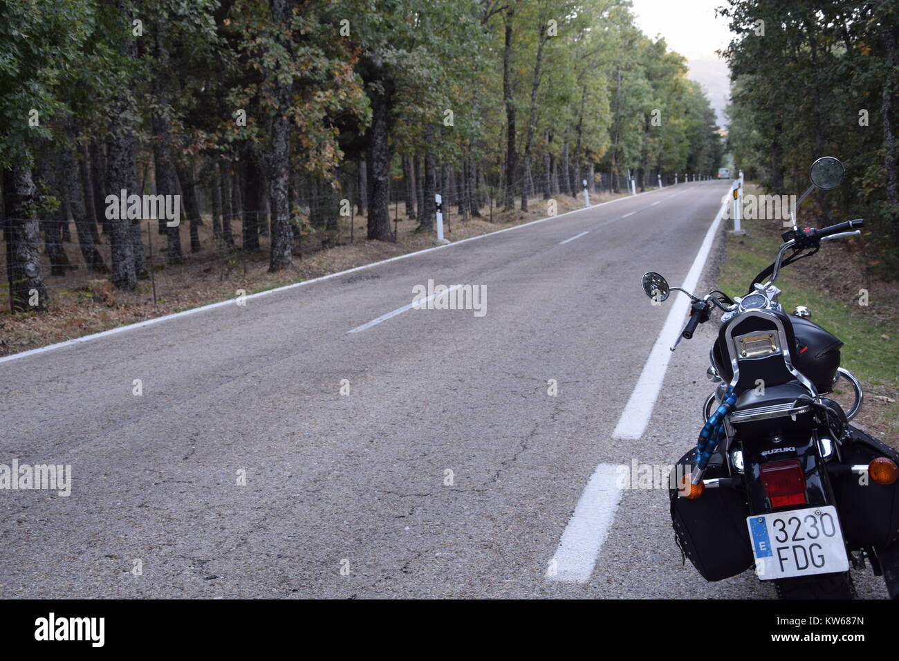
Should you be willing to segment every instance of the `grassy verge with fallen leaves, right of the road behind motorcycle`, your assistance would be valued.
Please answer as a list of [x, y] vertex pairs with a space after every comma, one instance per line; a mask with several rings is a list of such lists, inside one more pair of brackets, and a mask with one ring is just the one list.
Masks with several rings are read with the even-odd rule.
[[[725, 260], [717, 281], [731, 296], [745, 294], [752, 278], [777, 255], [779, 232], [783, 230], [777, 223], [765, 225], [752, 221], [746, 236], [726, 237]], [[855, 374], [865, 389], [859, 421], [899, 445], [899, 338], [895, 337], [899, 315], [889, 307], [895, 306], [895, 298], [879, 290], [876, 293], [874, 288], [879, 285], [874, 282], [868, 284], [868, 306], [860, 305], [859, 290], [868, 289], [863, 269], [846, 246], [836, 243], [823, 244], [817, 255], [779, 273], [777, 286], [783, 290], [779, 302], [788, 313], [797, 305], [807, 306], [814, 323], [843, 341], [841, 366]], [[841, 281], [845, 286], [828, 287], [828, 280]], [[838, 396], [845, 394], [839, 388], [835, 392]], [[837, 398], [851, 401], [851, 397]]]

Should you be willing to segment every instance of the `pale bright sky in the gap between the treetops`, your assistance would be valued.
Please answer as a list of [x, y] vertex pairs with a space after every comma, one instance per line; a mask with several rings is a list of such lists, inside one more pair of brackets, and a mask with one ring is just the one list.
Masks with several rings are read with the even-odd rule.
[[662, 35], [668, 48], [687, 58], [690, 78], [706, 87], [708, 98], [725, 126], [730, 91], [727, 64], [716, 50], [724, 49], [731, 33], [715, 8], [725, 0], [632, 0], [636, 24], [650, 37]]

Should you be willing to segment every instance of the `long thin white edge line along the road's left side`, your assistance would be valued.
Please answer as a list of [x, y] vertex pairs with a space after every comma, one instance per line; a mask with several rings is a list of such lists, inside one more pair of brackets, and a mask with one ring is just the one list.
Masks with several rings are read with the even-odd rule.
[[[661, 189], [655, 188], [652, 191], [638, 192], [637, 195], [647, 195], [653, 192], [658, 192]], [[589, 207], [583, 207], [581, 209], [574, 209], [571, 211], [565, 211], [565, 213], [560, 213], [557, 216], [547, 216], [546, 218], [541, 218], [537, 220], [531, 220], [528, 223], [523, 223], [521, 225], [516, 225], [513, 228], [505, 228], [505, 229], [497, 229], [495, 232], [489, 232], [487, 234], [480, 234], [476, 237], [468, 237], [463, 238], [458, 241], [454, 241], [453, 243], [447, 244], [445, 246], [433, 246], [432, 248], [424, 248], [423, 250], [416, 250], [414, 253], [406, 253], [405, 255], [396, 255], [396, 257], [389, 257], [387, 259], [382, 259], [380, 262], [372, 262], [371, 264], [362, 264], [361, 266], [355, 266], [352, 269], [347, 269], [346, 271], [338, 271], [336, 273], [328, 273], [327, 275], [319, 276], [318, 278], [313, 278], [312, 280], [304, 280], [302, 282], [292, 282], [291, 284], [284, 285], [283, 287], [277, 287], [273, 290], [265, 290], [260, 291], [255, 294], [250, 294], [249, 296], [245, 296], [244, 300], [257, 299], [263, 296], [268, 296], [269, 294], [273, 294], [277, 291], [291, 290], [295, 287], [303, 287], [307, 284], [312, 284], [313, 282], [320, 282], [323, 280], [329, 280], [330, 278], [336, 278], [341, 275], [346, 275], [347, 273], [352, 273], [355, 271], [361, 271], [362, 269], [370, 269], [373, 266], [379, 266], [380, 264], [387, 264], [388, 262], [396, 262], [400, 259], [405, 259], [406, 257], [414, 257], [415, 255], [423, 255], [424, 253], [430, 253], [432, 250], [441, 250], [442, 248], [449, 248], [451, 246], [458, 246], [459, 244], [464, 244], [467, 241], [474, 241], [478, 238], [484, 237], [494, 237], [497, 234], [503, 234], [503, 232], [511, 232], [513, 229], [521, 229], [526, 228], [529, 225], [536, 225], [537, 223], [542, 223], [545, 220], [562, 218], [563, 216], [567, 216], [572, 213], [577, 213], [579, 211], [586, 211], [589, 209], [595, 209], [596, 207], [601, 207], [604, 204], [611, 204], [613, 202], [618, 202], [622, 200], [632, 200], [635, 196], [628, 195], [616, 198], [614, 200], [607, 200], [604, 202], [600, 202], [599, 204], [591, 204]], [[144, 326], [151, 326], [153, 324], [158, 324], [161, 321], [166, 321], [168, 319], [174, 319], [175, 317], [186, 317], [187, 315], [192, 315], [195, 312], [202, 312], [204, 310], [209, 310], [212, 308], [221, 308], [226, 305], [233, 305], [236, 299], [227, 299], [220, 300], [217, 303], [209, 303], [208, 305], [200, 306], [199, 308], [191, 308], [187, 310], [182, 310], [181, 312], [173, 312], [171, 315], [165, 315], [164, 317], [154, 317], [152, 319], [147, 319], [147, 321], [138, 321], [137, 324], [128, 324], [126, 326], [119, 326], [117, 328], [111, 328], [107, 331], [102, 331], [101, 333], [93, 333], [93, 335], [84, 335], [83, 337], [75, 337], [71, 340], [66, 340], [65, 342], [58, 342], [57, 344], [48, 344], [47, 346], [40, 346], [37, 349], [30, 349], [29, 351], [23, 351], [21, 353], [13, 353], [8, 356], [4, 356], [0, 358], [0, 362], [13, 361], [16, 358], [24, 358], [26, 356], [31, 356], [36, 353], [44, 353], [48, 351], [52, 351], [53, 349], [60, 349], [64, 346], [70, 346], [72, 344], [80, 344], [83, 342], [90, 342], [91, 340], [96, 340], [100, 337], [104, 337], [106, 335], [113, 335], [115, 333], [121, 333], [122, 331], [130, 330], [132, 328], [141, 328]]]

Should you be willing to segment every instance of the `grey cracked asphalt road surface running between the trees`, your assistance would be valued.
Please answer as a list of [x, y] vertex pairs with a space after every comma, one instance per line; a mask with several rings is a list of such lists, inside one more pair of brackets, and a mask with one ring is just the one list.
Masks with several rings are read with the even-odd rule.
[[[621, 493], [583, 583], [547, 577], [598, 465], [695, 442], [711, 325], [674, 353], [642, 438], [612, 431], [668, 314], [640, 276], [680, 283], [726, 190], [681, 184], [0, 362], [0, 463], [74, 476], [67, 497], [0, 492], [2, 595], [773, 597], [752, 572], [681, 566], [653, 488]], [[486, 314], [348, 333], [429, 279], [484, 285]]]

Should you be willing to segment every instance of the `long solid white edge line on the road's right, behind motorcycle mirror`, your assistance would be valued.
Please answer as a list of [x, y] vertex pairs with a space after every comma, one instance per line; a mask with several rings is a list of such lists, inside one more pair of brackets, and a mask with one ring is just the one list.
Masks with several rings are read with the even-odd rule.
[[[725, 207], [728, 201], [724, 201], [721, 209], [718, 210], [715, 220], [706, 232], [706, 237], [699, 246], [699, 252], [690, 266], [687, 278], [683, 282], [683, 288], [692, 291], [699, 282], [699, 276], [706, 265], [708, 253], [712, 249], [715, 242], [718, 226], [721, 224], [721, 218], [724, 215]], [[649, 353], [649, 358], [640, 372], [640, 378], [636, 381], [634, 391], [630, 394], [628, 404], [624, 407], [619, 417], [619, 422], [612, 432], [612, 438], [638, 439], [643, 436], [646, 431], [646, 425], [649, 424], [649, 418], [653, 415], [653, 407], [655, 400], [659, 397], [659, 391], [662, 389], [662, 383], [665, 378], [665, 371], [668, 370], [668, 362], [671, 361], [672, 351], [671, 345], [674, 343], [678, 333], [681, 332], [681, 326], [684, 323], [684, 317], [687, 314], [687, 308], [690, 307], [690, 299], [686, 296], [679, 296], [674, 301], [662, 332], [655, 340], [653, 350]]]

